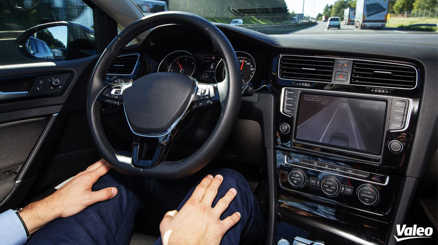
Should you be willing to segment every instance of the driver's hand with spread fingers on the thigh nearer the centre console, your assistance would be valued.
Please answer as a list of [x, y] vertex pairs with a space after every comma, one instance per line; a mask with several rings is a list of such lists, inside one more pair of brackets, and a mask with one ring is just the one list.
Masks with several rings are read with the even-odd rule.
[[224, 220], [220, 216], [236, 197], [234, 188], [212, 207], [223, 177], [205, 176], [181, 210], [169, 211], [160, 224], [163, 245], [168, 244], [219, 244], [227, 230], [240, 220], [235, 212]]

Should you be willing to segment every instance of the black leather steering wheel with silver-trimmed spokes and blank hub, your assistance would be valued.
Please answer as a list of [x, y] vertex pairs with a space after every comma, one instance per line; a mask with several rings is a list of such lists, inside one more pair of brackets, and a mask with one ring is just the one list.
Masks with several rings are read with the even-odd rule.
[[[111, 85], [107, 71], [119, 52], [156, 26], [185, 24], [198, 29], [224, 59], [226, 78], [219, 83], [202, 82], [178, 73], [152, 73], [120, 86], [128, 126], [133, 133], [132, 157], [126, 157], [108, 141], [100, 109], [102, 93]], [[227, 140], [241, 102], [241, 73], [236, 53], [223, 33], [210, 21], [194, 14], [168, 11], [141, 18], [120, 32], [102, 53], [91, 76], [87, 117], [91, 135], [102, 156], [115, 170], [158, 179], [189, 176], [207, 165]], [[172, 143], [197, 110], [220, 106], [220, 115], [210, 137], [186, 159], [165, 161]]]

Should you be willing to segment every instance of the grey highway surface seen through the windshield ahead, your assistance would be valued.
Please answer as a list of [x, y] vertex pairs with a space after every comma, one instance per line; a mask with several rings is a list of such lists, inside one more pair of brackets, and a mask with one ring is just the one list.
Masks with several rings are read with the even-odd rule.
[[354, 25], [345, 25], [341, 22], [341, 29], [330, 28], [327, 29], [327, 22], [318, 21], [316, 25], [300, 30], [296, 30], [295, 32], [287, 33], [287, 34], [431, 34], [436, 35], [434, 32], [422, 32], [418, 30], [406, 30], [399, 28], [391, 28], [385, 27], [382, 30], [375, 29], [360, 29], [355, 28]]

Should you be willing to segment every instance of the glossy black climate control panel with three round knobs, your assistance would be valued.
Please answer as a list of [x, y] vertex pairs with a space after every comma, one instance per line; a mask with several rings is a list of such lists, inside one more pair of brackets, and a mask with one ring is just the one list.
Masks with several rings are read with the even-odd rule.
[[354, 212], [383, 215], [391, 210], [397, 187], [391, 185], [390, 176], [330, 159], [282, 153], [281, 160], [277, 155], [280, 193], [293, 193], [294, 197], [301, 193], [308, 201], [334, 207], [341, 204]]

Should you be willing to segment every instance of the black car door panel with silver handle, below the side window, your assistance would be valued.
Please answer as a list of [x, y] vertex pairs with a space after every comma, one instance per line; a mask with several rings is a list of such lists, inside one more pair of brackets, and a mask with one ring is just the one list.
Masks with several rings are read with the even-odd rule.
[[[98, 159], [85, 113], [97, 58], [0, 66], [0, 91], [29, 92], [26, 97], [0, 100], [0, 212], [18, 206], [27, 193], [38, 195], [36, 186], [49, 185]], [[53, 74], [69, 75], [59, 93], [33, 93], [38, 78]], [[10, 175], [12, 171], [17, 173]]]

